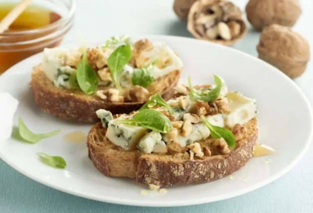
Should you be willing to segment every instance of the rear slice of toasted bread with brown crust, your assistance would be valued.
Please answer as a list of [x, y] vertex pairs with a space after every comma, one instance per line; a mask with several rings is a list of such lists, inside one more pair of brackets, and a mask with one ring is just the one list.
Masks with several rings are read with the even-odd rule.
[[[164, 100], [172, 97], [174, 87], [180, 76], [180, 70], [172, 71], [169, 74], [158, 78], [150, 87], [150, 92], [154, 95], [161, 94]], [[144, 103], [140, 102], [110, 102], [102, 100], [96, 95], [86, 95], [78, 89], [69, 90], [55, 87], [40, 65], [33, 68], [30, 86], [35, 103], [45, 112], [62, 119], [71, 119], [82, 122], [97, 122], [99, 118], [96, 110], [104, 108], [113, 114], [129, 113], [139, 109]], [[101, 86], [98, 88], [101, 90]]]

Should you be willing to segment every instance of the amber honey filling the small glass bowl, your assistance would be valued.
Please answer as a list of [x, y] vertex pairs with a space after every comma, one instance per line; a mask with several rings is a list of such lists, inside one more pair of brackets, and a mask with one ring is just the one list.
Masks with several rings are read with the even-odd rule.
[[[11, 9], [14, 7], [14, 4], [10, 3], [0, 3], [0, 20], [2, 20], [5, 15], [11, 11]], [[53, 23], [57, 20], [59, 20], [61, 16], [53, 11], [50, 11], [46, 8], [38, 7], [30, 5], [28, 6], [19, 16], [18, 18], [9, 26], [9, 28], [5, 32], [18, 32], [18, 31], [25, 31], [25, 30], [31, 30], [31, 29], [37, 29], [44, 26], [47, 26], [50, 23]], [[23, 36], [25, 40], [35, 39], [38, 38], [38, 36], [43, 36], [46, 34], [49, 34], [52, 32], [44, 32], [41, 35], [22, 35], [20, 37], [20, 41], [23, 40]], [[26, 37], [27, 36], [27, 37]], [[0, 43], [1, 42], [16, 42], [16, 38], [10, 39], [5, 38], [5, 41], [1, 41], [0, 37]], [[43, 46], [44, 42], [36, 43], [36, 44], [29, 44], [29, 45], [23, 45], [20, 47], [16, 46], [6, 46], [1, 47], [0, 46], [0, 74], [3, 73], [5, 70], [10, 68], [12, 65], [16, 64], [17, 62], [35, 54], [38, 52], [41, 52], [44, 47], [55, 47], [58, 46], [60, 40], [57, 40], [56, 42], [50, 43], [48, 46]], [[25, 49], [25, 50], [23, 50]]]

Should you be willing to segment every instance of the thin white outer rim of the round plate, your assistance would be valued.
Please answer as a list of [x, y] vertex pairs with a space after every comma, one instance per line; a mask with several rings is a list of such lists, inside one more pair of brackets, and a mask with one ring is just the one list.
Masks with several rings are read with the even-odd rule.
[[[227, 51], [232, 51], [236, 54], [241, 54], [245, 57], [250, 58], [251, 60], [256, 61], [256, 63], [261, 63], [264, 66], [268, 67], [269, 69], [272, 69], [274, 72], [276, 72], [278, 75], [280, 75], [282, 78], [285, 78], [287, 80], [287, 82], [290, 83], [290, 85], [292, 85], [298, 92], [299, 94], [301, 94], [302, 98], [305, 101], [306, 106], [309, 109], [309, 114], [311, 117], [311, 126], [313, 125], [313, 109], [311, 106], [310, 101], [308, 100], [307, 96], [304, 94], [304, 92], [300, 89], [300, 87], [293, 81], [291, 80], [289, 77], [287, 77], [285, 74], [283, 74], [280, 70], [278, 70], [277, 68], [275, 68], [274, 66], [268, 64], [267, 62], [262, 61], [261, 59], [252, 56], [248, 53], [242, 52], [240, 50], [231, 48], [231, 47], [227, 47], [224, 45], [220, 45], [220, 44], [216, 44], [213, 42], [206, 42], [206, 41], [202, 41], [202, 40], [197, 40], [194, 38], [187, 38], [187, 37], [181, 37], [181, 36], [169, 36], [169, 35], [141, 35], [141, 34], [134, 34], [132, 35], [132, 37], [148, 37], [148, 38], [152, 38], [152, 39], [174, 39], [174, 40], [190, 40], [191, 42], [195, 42], [195, 43], [205, 43], [206, 45], [210, 46], [217, 46], [218, 48], [224, 48], [227, 49]], [[91, 42], [90, 42], [91, 43]], [[101, 42], [92, 42], [92, 43], [101, 43]], [[64, 47], [65, 45], [61, 45], [60, 47]], [[15, 64], [14, 66], [12, 66], [11, 68], [9, 68], [6, 72], [4, 72], [0, 78], [6, 77], [7, 75], [11, 75], [11, 73], [14, 70], [16, 66], [18, 66], [19, 64], [24, 63], [25, 61], [29, 60], [30, 58], [36, 58], [38, 57], [38, 55], [42, 54], [42, 52], [37, 53], [35, 55], [32, 55], [20, 62], [18, 62], [17, 64]], [[312, 129], [312, 128], [311, 128]], [[142, 207], [176, 207], [176, 206], [190, 206], [190, 205], [197, 205], [197, 204], [204, 204], [204, 203], [211, 203], [211, 202], [215, 202], [215, 201], [221, 201], [221, 200], [226, 200], [226, 199], [230, 199], [230, 198], [234, 198], [246, 193], [249, 193], [251, 191], [254, 191], [256, 189], [259, 189], [275, 180], [277, 180], [278, 178], [282, 177], [283, 175], [285, 175], [288, 171], [290, 171], [302, 158], [303, 156], [307, 153], [311, 143], [313, 140], [313, 130], [311, 130], [309, 137], [307, 138], [307, 143], [304, 147], [304, 149], [302, 150], [302, 152], [300, 152], [297, 157], [288, 164], [288, 166], [284, 167], [283, 169], [281, 169], [280, 171], [278, 171], [275, 175], [273, 175], [270, 178], [267, 178], [263, 181], [260, 181], [252, 186], [246, 187], [244, 189], [241, 190], [237, 190], [231, 193], [227, 193], [227, 194], [223, 194], [220, 196], [215, 196], [215, 197], [211, 197], [211, 198], [202, 198], [202, 199], [197, 199], [197, 200], [190, 200], [190, 201], [175, 201], [175, 202], [171, 202], [171, 201], [157, 201], [157, 202], [148, 202], [148, 201], [143, 201], [143, 202], [136, 202], [133, 203], [131, 200], [125, 200], [125, 199], [116, 199], [116, 198], [110, 198], [110, 196], [106, 196], [106, 197], [98, 197], [98, 196], [94, 196], [92, 194], [86, 194], [86, 193], [80, 193], [80, 192], [76, 192], [75, 190], [71, 190], [71, 189], [65, 189], [64, 187], [59, 187], [56, 184], [51, 184], [49, 181], [46, 181], [45, 179], [40, 179], [38, 177], [36, 177], [35, 175], [32, 175], [30, 173], [27, 173], [25, 170], [20, 169], [16, 164], [14, 164], [12, 161], [10, 161], [8, 158], [6, 158], [4, 152], [2, 149], [0, 149], [0, 158], [6, 163], [8, 164], [10, 167], [12, 167], [13, 169], [15, 169], [17, 172], [23, 174], [24, 176], [40, 183], [43, 184], [45, 186], [48, 186], [50, 188], [59, 190], [61, 192], [65, 192], [74, 196], [78, 196], [78, 197], [82, 197], [82, 198], [86, 198], [86, 199], [92, 199], [95, 201], [101, 201], [101, 202], [106, 202], [106, 203], [112, 203], [112, 204], [120, 204], [120, 205], [128, 205], [128, 206], [142, 206]]]

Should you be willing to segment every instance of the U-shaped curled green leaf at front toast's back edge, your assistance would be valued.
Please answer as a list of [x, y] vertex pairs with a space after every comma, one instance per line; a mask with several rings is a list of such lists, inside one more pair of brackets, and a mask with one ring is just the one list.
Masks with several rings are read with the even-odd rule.
[[190, 88], [189, 95], [190, 95], [191, 100], [192, 101], [212, 102], [215, 99], [217, 99], [220, 92], [221, 92], [222, 80], [219, 77], [217, 77], [216, 75], [214, 75], [214, 81], [215, 81], [215, 85], [216, 85], [215, 88], [200, 91], [200, 90], [195, 90], [192, 87], [191, 78], [189, 76], [188, 77], [188, 84], [189, 84], [189, 88]]

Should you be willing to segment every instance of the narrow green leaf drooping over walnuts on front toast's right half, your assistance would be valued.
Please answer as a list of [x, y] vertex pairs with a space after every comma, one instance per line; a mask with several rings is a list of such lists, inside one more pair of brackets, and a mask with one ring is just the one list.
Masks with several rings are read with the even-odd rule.
[[222, 137], [227, 142], [228, 146], [230, 147], [236, 146], [236, 138], [232, 131], [230, 131], [227, 128], [212, 125], [203, 115], [201, 115], [201, 119], [204, 125], [206, 125], [210, 130], [210, 133], [213, 138], [218, 139]]

